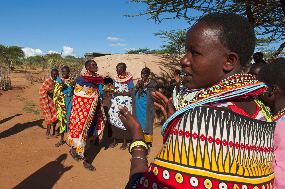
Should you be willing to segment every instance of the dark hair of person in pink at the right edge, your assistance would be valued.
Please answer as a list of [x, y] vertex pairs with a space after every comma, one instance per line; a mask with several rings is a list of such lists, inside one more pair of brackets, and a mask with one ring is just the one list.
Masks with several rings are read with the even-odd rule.
[[278, 86], [285, 93], [285, 58], [277, 58], [270, 64], [265, 65], [258, 73], [266, 84]]

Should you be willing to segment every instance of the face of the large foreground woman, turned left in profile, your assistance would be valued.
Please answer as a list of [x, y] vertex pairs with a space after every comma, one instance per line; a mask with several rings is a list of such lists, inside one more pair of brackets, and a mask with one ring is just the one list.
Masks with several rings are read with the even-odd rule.
[[230, 52], [218, 40], [219, 31], [211, 29], [204, 21], [192, 26], [186, 34], [187, 53], [180, 61], [186, 74], [189, 89], [207, 88], [225, 77], [222, 66], [225, 54]]

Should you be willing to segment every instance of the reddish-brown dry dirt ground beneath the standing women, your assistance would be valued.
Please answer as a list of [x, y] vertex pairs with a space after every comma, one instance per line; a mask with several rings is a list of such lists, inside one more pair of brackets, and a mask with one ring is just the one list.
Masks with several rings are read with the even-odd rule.
[[[41, 76], [40, 69], [33, 72]], [[87, 171], [82, 161], [76, 162], [69, 155], [70, 147], [54, 147], [59, 138], [44, 137], [46, 123], [38, 95], [42, 83], [31, 84], [25, 78], [26, 74], [16, 68], [11, 73], [13, 89], [0, 91], [0, 188], [124, 188], [131, 155], [128, 150], [119, 150], [122, 141], [108, 149], [112, 139], [105, 128], [102, 143], [91, 144], [88, 149], [89, 161], [97, 170]], [[148, 161], [163, 146], [160, 129], [156, 121]]]

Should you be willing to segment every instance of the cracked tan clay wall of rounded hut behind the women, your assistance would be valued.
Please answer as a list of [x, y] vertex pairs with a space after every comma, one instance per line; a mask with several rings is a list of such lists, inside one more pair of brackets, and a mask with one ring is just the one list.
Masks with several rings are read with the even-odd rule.
[[[134, 84], [141, 78], [141, 70], [145, 67], [150, 69], [150, 79], [153, 79], [157, 87], [169, 87], [173, 72], [181, 70], [181, 55], [172, 54], [115, 54], [93, 58], [98, 65], [98, 74], [112, 79], [115, 78], [116, 66], [123, 62], [127, 65], [127, 72], [131, 72]], [[85, 67], [81, 72], [86, 71]]]

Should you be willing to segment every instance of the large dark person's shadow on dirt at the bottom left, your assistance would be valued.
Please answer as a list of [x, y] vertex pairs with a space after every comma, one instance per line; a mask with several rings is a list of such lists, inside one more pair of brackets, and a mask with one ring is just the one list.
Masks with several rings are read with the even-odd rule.
[[23, 188], [42, 188], [50, 189], [54, 184], [60, 179], [60, 177], [66, 172], [69, 171], [73, 165], [65, 167], [62, 165], [67, 157], [67, 154], [64, 153], [60, 155], [55, 161], [44, 165], [42, 168], [38, 169], [32, 175], [28, 176], [25, 180], [20, 182], [13, 189], [23, 189]]

